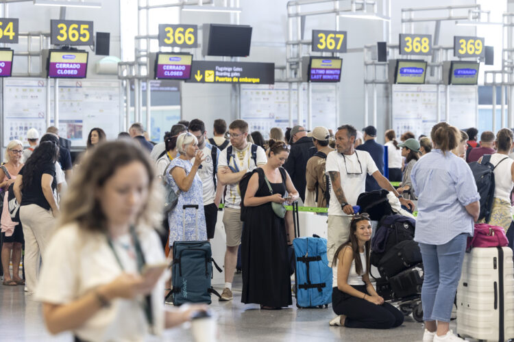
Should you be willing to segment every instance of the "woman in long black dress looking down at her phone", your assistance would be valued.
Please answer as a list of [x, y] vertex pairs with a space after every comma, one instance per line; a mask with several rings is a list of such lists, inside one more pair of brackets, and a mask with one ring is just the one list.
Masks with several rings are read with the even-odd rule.
[[285, 222], [271, 207], [271, 202], [285, 204], [299, 196], [291, 177], [281, 167], [290, 148], [284, 142], [269, 141], [268, 162], [254, 171], [244, 198], [247, 217], [241, 242], [241, 302], [260, 304], [261, 309], [292, 304]]

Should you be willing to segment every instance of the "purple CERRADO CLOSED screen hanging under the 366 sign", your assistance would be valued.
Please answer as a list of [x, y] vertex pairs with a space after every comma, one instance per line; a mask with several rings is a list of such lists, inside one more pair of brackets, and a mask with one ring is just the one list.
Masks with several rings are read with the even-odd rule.
[[158, 53], [156, 79], [190, 79], [191, 62], [191, 54]]

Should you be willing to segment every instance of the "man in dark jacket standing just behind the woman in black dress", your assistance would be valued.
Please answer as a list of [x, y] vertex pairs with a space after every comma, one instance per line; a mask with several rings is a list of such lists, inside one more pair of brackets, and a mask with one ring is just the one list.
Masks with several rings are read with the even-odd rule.
[[302, 126], [297, 125], [291, 129], [290, 140], [291, 153], [284, 163], [284, 169], [289, 173], [300, 198], [305, 201], [307, 161], [316, 153], [316, 148], [314, 148], [313, 138], [307, 136], [307, 130]]

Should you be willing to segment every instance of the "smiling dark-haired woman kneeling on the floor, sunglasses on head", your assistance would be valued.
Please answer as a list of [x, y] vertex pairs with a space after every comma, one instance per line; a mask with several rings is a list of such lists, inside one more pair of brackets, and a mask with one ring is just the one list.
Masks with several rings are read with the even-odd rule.
[[384, 302], [369, 281], [370, 250], [369, 215], [354, 215], [350, 239], [337, 248], [332, 261], [332, 308], [338, 316], [331, 326], [389, 329], [402, 325], [403, 313]]

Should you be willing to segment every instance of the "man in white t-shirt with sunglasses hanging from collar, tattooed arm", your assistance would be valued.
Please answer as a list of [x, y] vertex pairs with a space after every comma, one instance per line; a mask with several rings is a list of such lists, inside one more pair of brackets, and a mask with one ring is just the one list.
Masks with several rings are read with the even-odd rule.
[[327, 257], [332, 265], [334, 253], [350, 237], [350, 222], [357, 198], [365, 192], [366, 174], [373, 176], [382, 189], [393, 192], [402, 205], [414, 208], [413, 202], [405, 200], [396, 192], [387, 178], [382, 176], [371, 155], [364, 150], [355, 150], [357, 131], [350, 124], [337, 129], [336, 150], [327, 155], [325, 171], [330, 176], [330, 205], [328, 207]]

